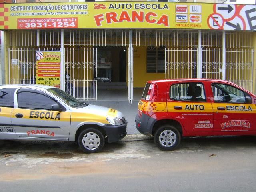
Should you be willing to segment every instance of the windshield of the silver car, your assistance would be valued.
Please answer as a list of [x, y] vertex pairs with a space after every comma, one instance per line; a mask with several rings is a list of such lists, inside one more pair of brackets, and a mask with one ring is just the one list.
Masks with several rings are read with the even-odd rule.
[[88, 104], [84, 102], [80, 102], [76, 98], [72, 97], [70, 94], [60, 90], [59, 88], [50, 88], [48, 89], [49, 92], [56, 95], [58, 98], [63, 100], [67, 105], [71, 107], [80, 107], [80, 106], [87, 106]]

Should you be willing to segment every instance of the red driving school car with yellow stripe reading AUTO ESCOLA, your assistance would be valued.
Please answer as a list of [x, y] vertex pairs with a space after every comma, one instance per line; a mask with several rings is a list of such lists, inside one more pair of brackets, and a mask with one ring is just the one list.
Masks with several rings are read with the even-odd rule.
[[136, 115], [136, 128], [153, 135], [164, 151], [181, 137], [256, 135], [256, 96], [224, 80], [148, 81]]

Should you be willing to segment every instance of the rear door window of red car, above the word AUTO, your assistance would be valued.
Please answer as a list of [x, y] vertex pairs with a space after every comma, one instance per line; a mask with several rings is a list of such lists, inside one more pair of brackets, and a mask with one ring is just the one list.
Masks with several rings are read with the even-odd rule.
[[202, 83], [180, 83], [170, 87], [170, 99], [176, 101], [206, 101]]

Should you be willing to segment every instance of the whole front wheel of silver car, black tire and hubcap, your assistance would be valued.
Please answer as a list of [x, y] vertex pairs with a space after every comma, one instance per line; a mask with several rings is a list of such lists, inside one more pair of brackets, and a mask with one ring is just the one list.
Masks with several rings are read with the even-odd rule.
[[78, 136], [78, 145], [86, 153], [99, 152], [104, 144], [105, 138], [102, 132], [95, 128], [85, 129]]

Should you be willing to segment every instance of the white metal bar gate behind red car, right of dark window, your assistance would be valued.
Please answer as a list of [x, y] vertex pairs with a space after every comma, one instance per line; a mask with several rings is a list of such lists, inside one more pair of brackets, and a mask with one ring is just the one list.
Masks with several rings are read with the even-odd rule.
[[166, 43], [170, 42], [166, 39], [158, 40], [168, 46], [166, 78], [223, 79], [252, 91], [254, 51], [251, 32], [199, 31], [199, 38], [190, 33], [172, 32], [172, 43]]

